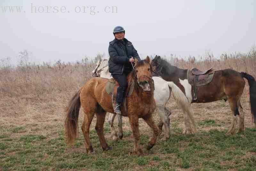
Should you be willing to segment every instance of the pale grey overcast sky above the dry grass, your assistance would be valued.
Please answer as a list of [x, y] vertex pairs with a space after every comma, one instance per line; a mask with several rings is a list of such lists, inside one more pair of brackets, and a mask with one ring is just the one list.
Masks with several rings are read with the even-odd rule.
[[[10, 12], [6, 6], [22, 9]], [[255, 0], [0, 0], [0, 58], [15, 61], [23, 49], [36, 62], [77, 61], [98, 53], [107, 57], [118, 25], [141, 58], [247, 53], [256, 41], [255, 10]]]

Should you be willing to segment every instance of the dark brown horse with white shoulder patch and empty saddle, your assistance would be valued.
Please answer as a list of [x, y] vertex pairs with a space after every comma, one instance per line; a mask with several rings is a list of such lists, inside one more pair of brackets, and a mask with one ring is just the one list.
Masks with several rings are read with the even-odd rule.
[[[256, 82], [251, 75], [245, 72], [237, 72], [232, 69], [219, 71], [209, 69], [204, 72], [193, 69], [192, 71], [189, 71], [187, 69], [180, 69], [176, 66], [172, 66], [166, 60], [161, 59], [160, 56], [156, 56], [152, 60], [151, 65], [154, 70], [154, 76], [160, 76], [166, 81], [173, 81], [187, 96], [190, 103], [207, 103], [217, 100], [228, 100], [233, 120], [227, 134], [235, 133], [237, 115], [239, 116], [238, 132], [245, 130], [244, 111], [240, 99], [244, 91], [244, 78], [246, 78], [250, 86], [251, 113], [254, 123], [256, 123]], [[212, 76], [212, 78], [210, 76]], [[197, 86], [194, 86], [195, 84]]]

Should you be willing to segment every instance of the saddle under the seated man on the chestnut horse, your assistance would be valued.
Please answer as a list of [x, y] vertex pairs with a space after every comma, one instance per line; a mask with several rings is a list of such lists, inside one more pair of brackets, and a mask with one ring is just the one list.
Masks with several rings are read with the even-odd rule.
[[[132, 95], [132, 92], [133, 92], [133, 89], [134, 89], [134, 85], [135, 85], [135, 82], [132, 79], [131, 73], [127, 75], [126, 80], [127, 80], [128, 86], [127, 86], [127, 88], [125, 90], [123, 107], [121, 108], [121, 112], [122, 113], [123, 113], [123, 110], [124, 110], [125, 113], [127, 111], [126, 97]], [[118, 84], [118, 82], [114, 78], [108, 79], [108, 83], [106, 85], [106, 92], [109, 95], [111, 95], [111, 101], [112, 101], [113, 109], [115, 109], [116, 94], [117, 94], [117, 88], [118, 87], [119, 87], [119, 84]]]

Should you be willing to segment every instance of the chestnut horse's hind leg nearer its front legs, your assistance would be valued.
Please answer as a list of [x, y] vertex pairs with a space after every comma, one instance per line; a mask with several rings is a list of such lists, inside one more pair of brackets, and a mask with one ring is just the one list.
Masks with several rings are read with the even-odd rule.
[[106, 112], [96, 113], [96, 116], [97, 116], [97, 122], [96, 122], [95, 130], [97, 131], [98, 137], [100, 139], [100, 145], [102, 147], [102, 150], [107, 151], [110, 149], [110, 147], [108, 146], [103, 134], [103, 126], [105, 122]]

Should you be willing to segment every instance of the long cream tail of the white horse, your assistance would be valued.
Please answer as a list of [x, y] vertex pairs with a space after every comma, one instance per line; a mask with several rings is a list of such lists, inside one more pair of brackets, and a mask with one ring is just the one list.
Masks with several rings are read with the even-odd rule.
[[191, 128], [194, 130], [194, 132], [197, 132], [195, 118], [189, 109], [190, 102], [188, 101], [188, 98], [180, 90], [180, 88], [177, 85], [175, 85], [173, 82], [168, 82], [168, 85], [172, 91], [174, 100], [185, 112], [184, 115], [186, 115], [186, 113], [188, 114], [188, 117], [190, 118], [189, 123], [190, 123], [190, 125], [192, 125]]

